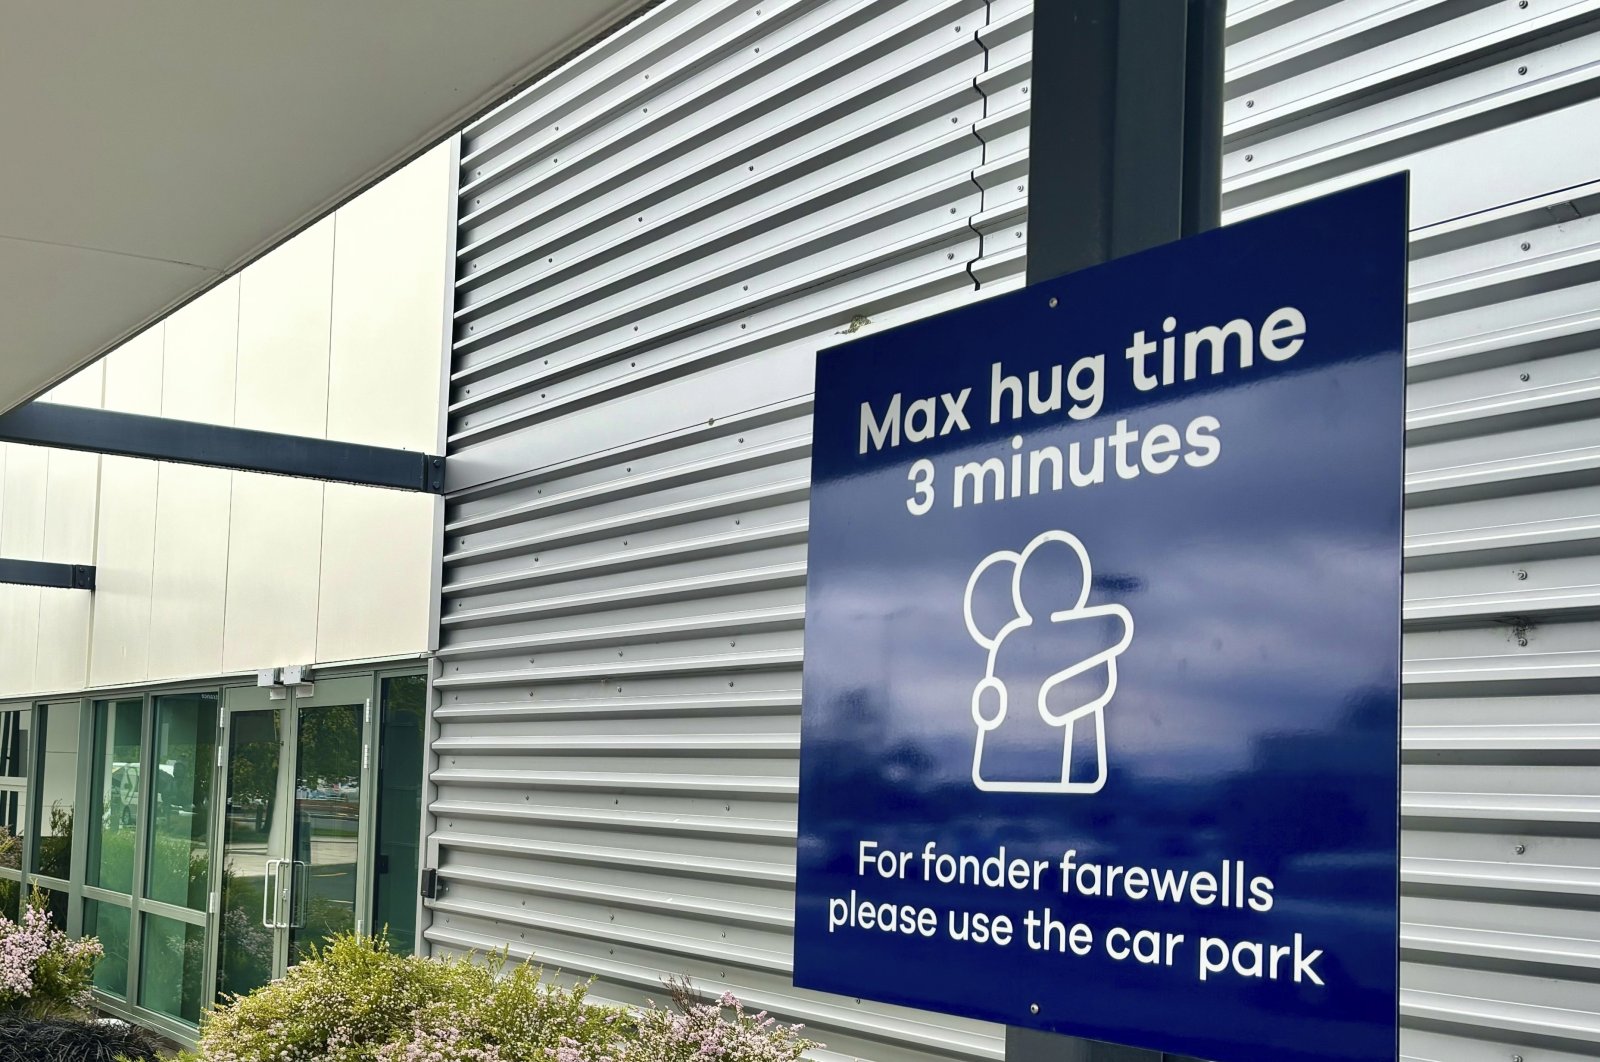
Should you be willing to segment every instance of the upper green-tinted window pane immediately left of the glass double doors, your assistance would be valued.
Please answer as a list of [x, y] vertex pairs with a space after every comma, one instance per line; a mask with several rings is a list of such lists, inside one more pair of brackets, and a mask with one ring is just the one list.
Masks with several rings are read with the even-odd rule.
[[152, 900], [205, 910], [214, 769], [216, 694], [157, 697], [144, 875], [144, 894]]

